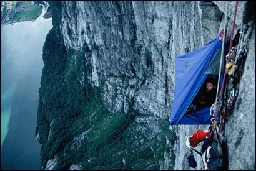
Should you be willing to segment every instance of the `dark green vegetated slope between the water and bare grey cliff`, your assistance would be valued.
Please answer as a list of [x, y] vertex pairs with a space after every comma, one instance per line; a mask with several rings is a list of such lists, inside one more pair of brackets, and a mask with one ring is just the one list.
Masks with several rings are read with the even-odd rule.
[[[88, 79], [92, 68], [84, 54], [92, 53], [92, 49], [66, 50], [58, 29], [61, 3], [53, 3], [54, 27], [43, 48], [37, 111], [41, 166], [46, 167], [57, 156], [57, 170], [69, 169], [72, 164], [85, 170], [160, 169], [164, 153], [170, 152], [165, 142], [168, 139], [174, 144], [176, 138], [169, 130], [169, 121], [137, 111], [107, 111], [102, 90], [92, 87]], [[174, 167], [174, 152], [172, 159], [170, 169]]]

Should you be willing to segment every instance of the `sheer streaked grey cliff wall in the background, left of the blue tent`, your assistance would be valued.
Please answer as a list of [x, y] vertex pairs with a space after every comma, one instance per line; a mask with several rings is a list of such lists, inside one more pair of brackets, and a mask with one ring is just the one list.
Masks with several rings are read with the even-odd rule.
[[[132, 108], [168, 118], [174, 57], [202, 45], [197, 3], [66, 1], [62, 4], [65, 45], [79, 50], [86, 44], [92, 49], [86, 57], [92, 66], [88, 77], [92, 84], [104, 86], [104, 100], [110, 104], [109, 109], [129, 111], [127, 97], [134, 99]], [[127, 81], [120, 81], [121, 76]], [[118, 93], [111, 91], [114, 85], [120, 90]]]

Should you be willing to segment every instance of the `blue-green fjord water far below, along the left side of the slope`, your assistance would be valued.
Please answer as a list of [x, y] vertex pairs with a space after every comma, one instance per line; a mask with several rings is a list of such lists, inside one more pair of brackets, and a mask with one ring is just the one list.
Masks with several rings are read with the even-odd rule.
[[36, 117], [42, 47], [52, 28], [43, 9], [36, 21], [1, 27], [1, 170], [39, 170]]

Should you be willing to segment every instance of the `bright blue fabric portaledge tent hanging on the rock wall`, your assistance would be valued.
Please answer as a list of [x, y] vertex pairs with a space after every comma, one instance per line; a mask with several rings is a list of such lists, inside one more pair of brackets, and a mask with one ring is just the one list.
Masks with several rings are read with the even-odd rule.
[[[213, 58], [216, 59], [217, 52], [220, 51], [221, 47], [222, 41], [216, 37], [200, 49], [175, 57], [175, 87], [171, 125], [211, 124], [210, 106], [192, 114], [184, 114], [204, 83], [207, 77], [205, 71], [209, 64], [213, 63], [211, 62]], [[219, 73], [219, 70], [216, 73]]]

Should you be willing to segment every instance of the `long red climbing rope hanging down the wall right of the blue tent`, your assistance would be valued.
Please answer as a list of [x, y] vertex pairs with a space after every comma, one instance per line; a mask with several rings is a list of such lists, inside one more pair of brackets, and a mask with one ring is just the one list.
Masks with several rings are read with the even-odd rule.
[[[234, 35], [234, 29], [235, 29], [235, 17], [237, 16], [237, 5], [238, 5], [238, 0], [235, 3], [235, 14], [234, 14], [234, 21], [233, 21], [233, 25], [232, 25], [232, 32], [231, 32], [230, 45], [229, 45], [229, 58], [227, 60], [227, 63], [229, 63], [230, 59], [231, 59], [230, 54], [231, 54], [231, 47], [232, 47], [232, 43], [233, 43], [233, 35]], [[212, 131], [214, 130], [214, 127], [216, 126], [216, 118], [217, 118], [217, 115], [218, 115], [218, 112], [219, 112], [220, 99], [222, 98], [222, 93], [223, 93], [223, 90], [224, 90], [224, 83], [225, 83], [225, 78], [226, 78], [227, 72], [229, 72], [229, 70], [228, 70], [228, 68], [225, 68], [225, 73], [224, 73], [224, 78], [223, 78], [223, 81], [222, 81], [219, 101], [218, 101], [218, 105], [217, 105], [217, 109], [216, 109], [216, 113], [215, 113], [215, 118], [214, 118], [214, 124], [212, 126], [211, 131], [210, 131], [209, 139], [212, 137]]]

